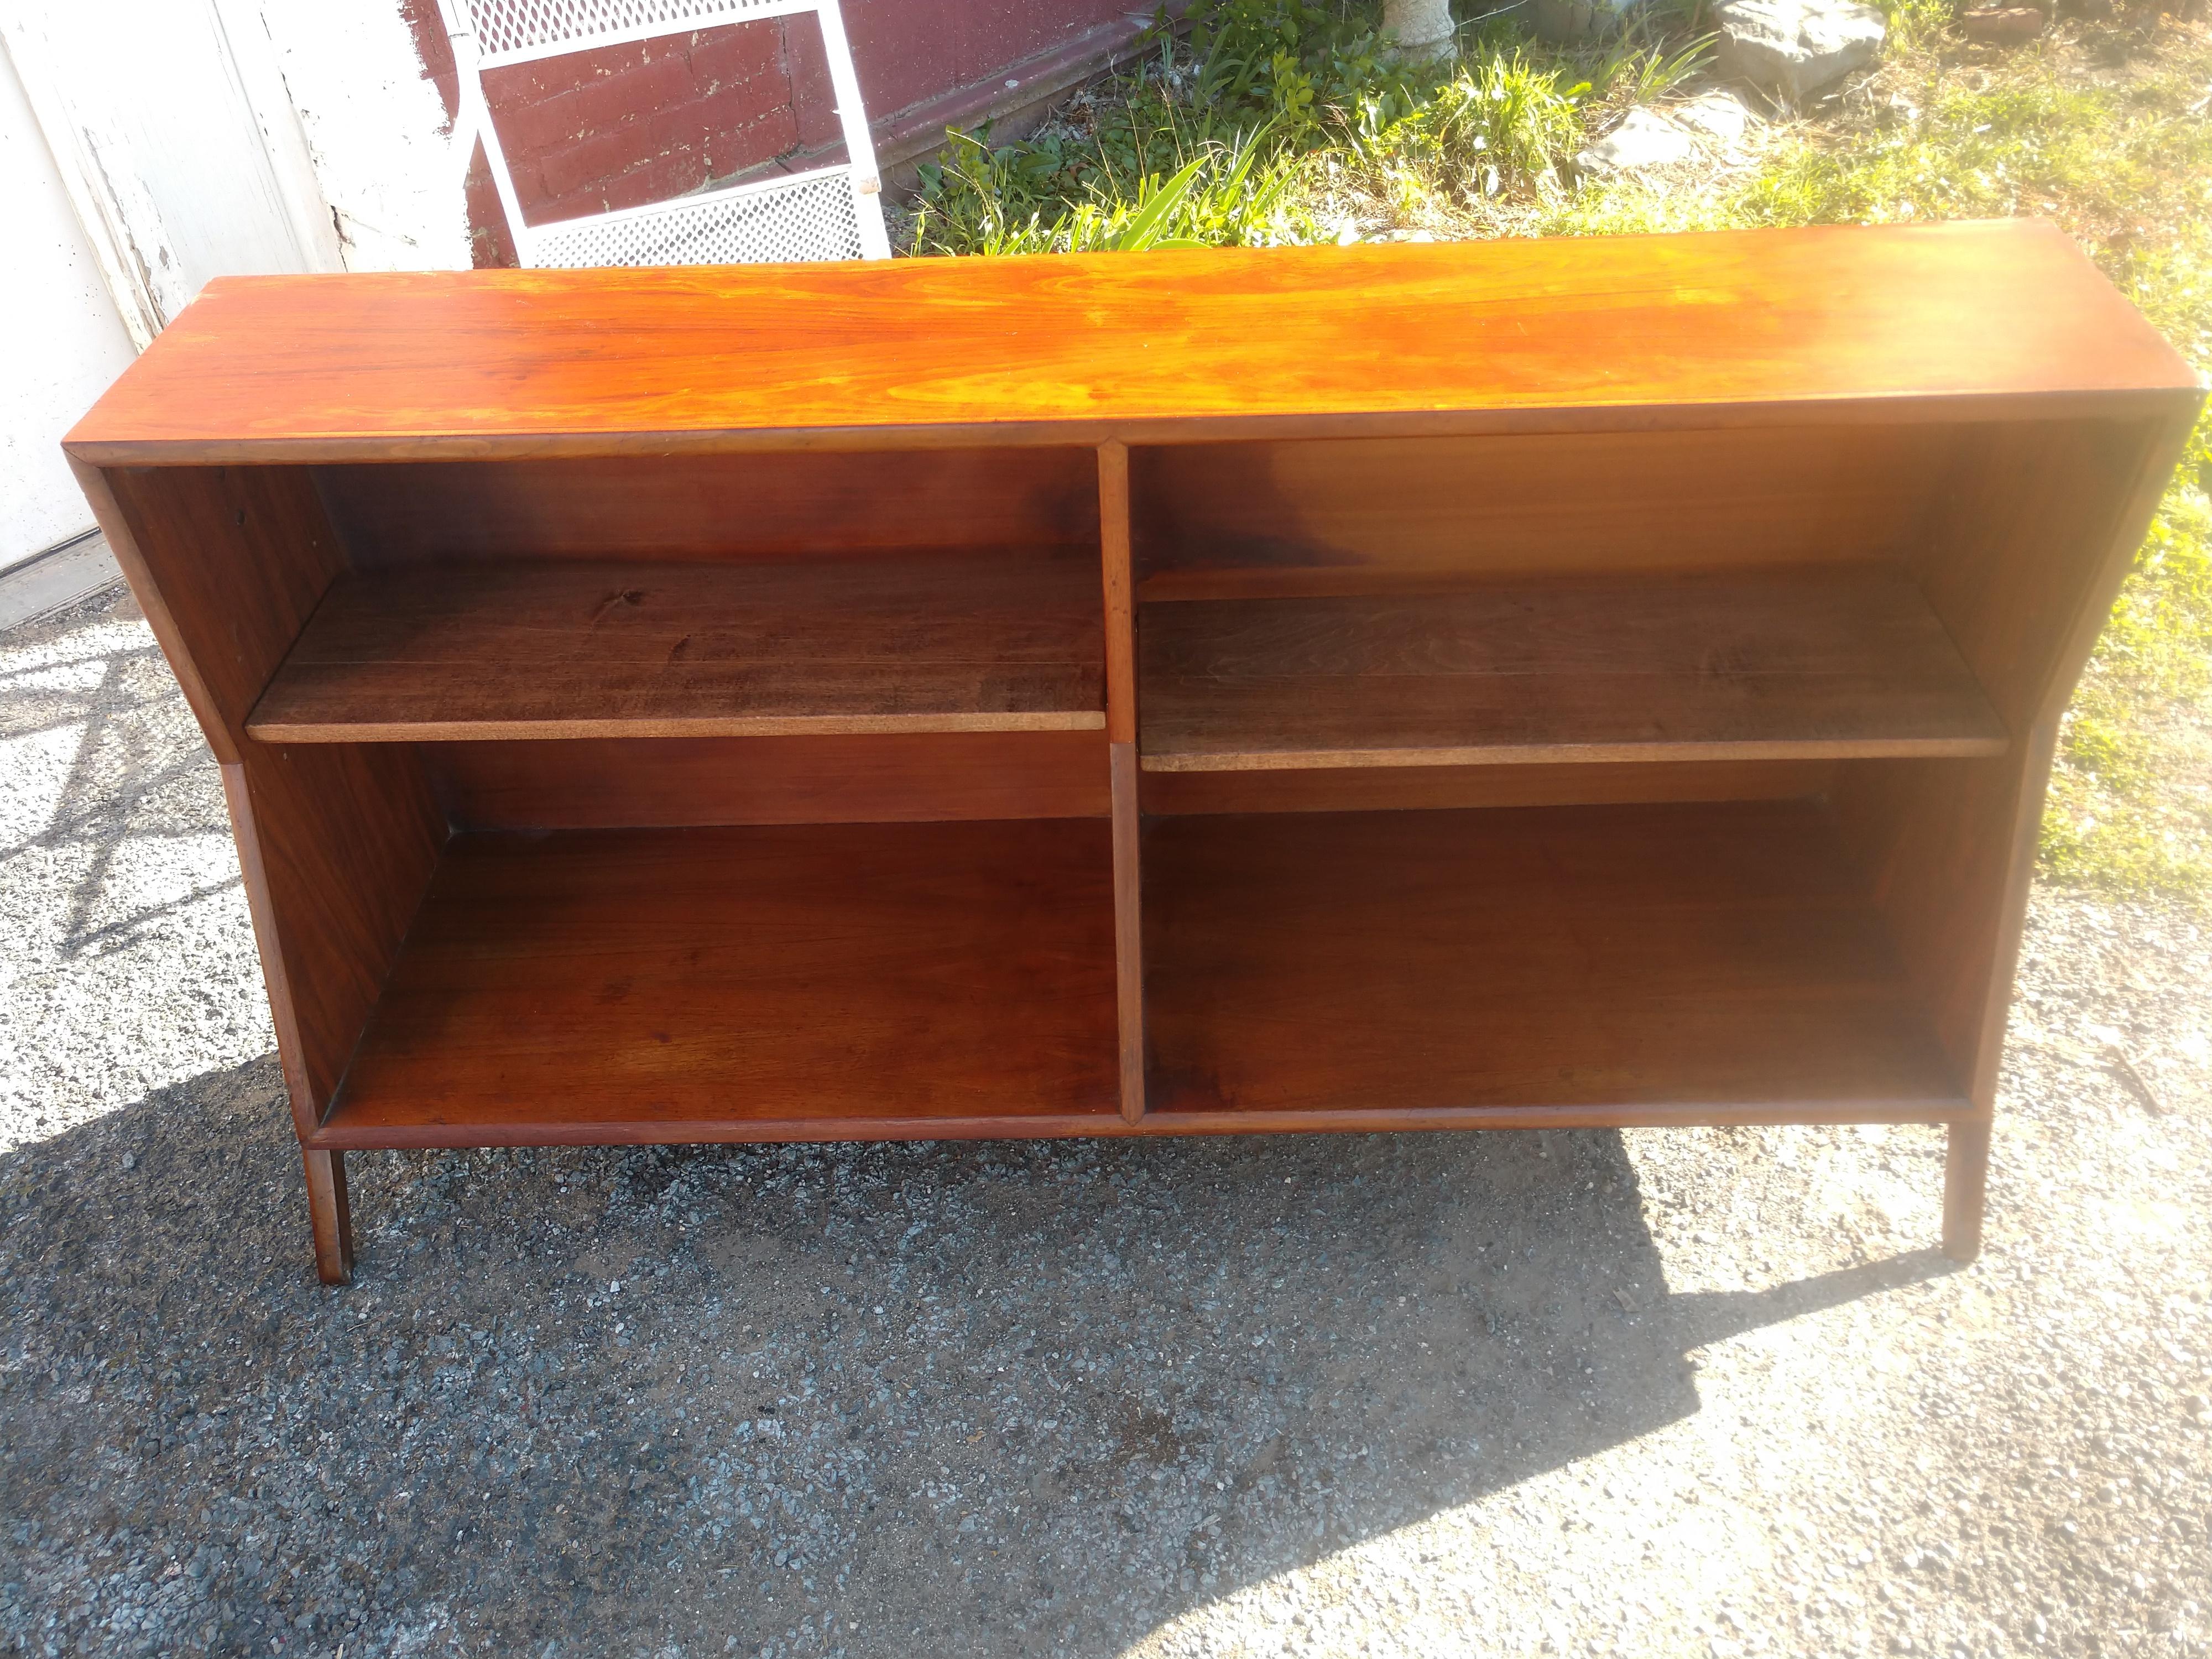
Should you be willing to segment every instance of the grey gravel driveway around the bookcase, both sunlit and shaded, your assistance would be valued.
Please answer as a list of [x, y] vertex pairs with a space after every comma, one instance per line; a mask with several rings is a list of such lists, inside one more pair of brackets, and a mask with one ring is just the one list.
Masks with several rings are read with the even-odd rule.
[[1920, 1128], [369, 1152], [212, 759], [0, 635], [0, 1650], [2212, 1652], [2212, 942], [2039, 894]]

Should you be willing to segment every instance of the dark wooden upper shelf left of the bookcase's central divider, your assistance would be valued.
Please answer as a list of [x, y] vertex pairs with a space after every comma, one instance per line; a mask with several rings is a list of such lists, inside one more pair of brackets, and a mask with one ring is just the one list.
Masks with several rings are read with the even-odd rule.
[[341, 577], [265, 743], [1068, 732], [1106, 723], [1093, 557], [495, 560]]

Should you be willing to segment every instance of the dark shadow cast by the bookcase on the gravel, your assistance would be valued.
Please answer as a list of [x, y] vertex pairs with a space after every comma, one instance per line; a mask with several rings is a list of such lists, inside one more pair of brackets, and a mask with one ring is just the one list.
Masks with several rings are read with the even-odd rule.
[[272, 1055], [0, 1159], [0, 1639], [1106, 1655], [1942, 1270], [1670, 1296], [1610, 1133], [352, 1172], [325, 1292]]

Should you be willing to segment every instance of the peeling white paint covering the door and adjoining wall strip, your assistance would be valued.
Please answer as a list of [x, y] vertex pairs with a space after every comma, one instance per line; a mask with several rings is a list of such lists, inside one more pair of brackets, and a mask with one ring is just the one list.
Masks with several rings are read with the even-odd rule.
[[4, 0], [0, 44], [7, 566], [88, 524], [60, 436], [212, 276], [465, 268], [469, 223], [398, 0]]

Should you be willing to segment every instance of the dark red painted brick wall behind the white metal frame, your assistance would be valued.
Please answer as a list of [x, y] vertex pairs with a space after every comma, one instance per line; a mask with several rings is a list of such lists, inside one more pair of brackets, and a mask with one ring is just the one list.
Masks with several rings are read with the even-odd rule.
[[[451, 42], [436, 0], [400, 0], [456, 108]], [[978, 119], [1006, 77], [1095, 49], [1104, 62], [1150, 7], [1135, 0], [845, 0], [860, 97], [878, 153], [933, 146]], [[531, 223], [664, 201], [708, 181], [843, 155], [821, 29], [772, 18], [495, 71], [487, 97]], [[933, 128], [931, 128], [933, 122]], [[476, 263], [513, 263], [504, 215], [478, 164], [469, 179]]]

